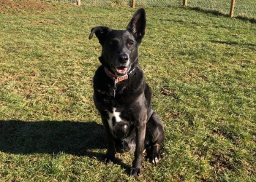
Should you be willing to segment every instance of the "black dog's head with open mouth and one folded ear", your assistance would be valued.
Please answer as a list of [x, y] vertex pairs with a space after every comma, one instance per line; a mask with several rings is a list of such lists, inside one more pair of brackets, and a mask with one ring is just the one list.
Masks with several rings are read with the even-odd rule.
[[127, 30], [113, 30], [107, 26], [91, 29], [89, 39], [95, 35], [102, 45], [99, 61], [116, 76], [124, 76], [138, 64], [138, 46], [145, 35], [146, 12], [138, 9], [127, 25]]

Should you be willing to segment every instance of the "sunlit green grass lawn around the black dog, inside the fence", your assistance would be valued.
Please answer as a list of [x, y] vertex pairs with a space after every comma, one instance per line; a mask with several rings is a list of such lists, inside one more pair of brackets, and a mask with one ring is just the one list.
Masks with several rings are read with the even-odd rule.
[[101, 47], [88, 37], [125, 28], [135, 9], [37, 3], [1, 9], [0, 181], [256, 181], [255, 24], [146, 8], [140, 66], [165, 143], [134, 179], [133, 154], [102, 162], [91, 83]]

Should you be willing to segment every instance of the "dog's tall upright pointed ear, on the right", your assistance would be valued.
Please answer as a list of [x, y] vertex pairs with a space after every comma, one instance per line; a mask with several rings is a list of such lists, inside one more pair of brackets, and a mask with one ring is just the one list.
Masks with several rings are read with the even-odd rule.
[[131, 32], [135, 39], [140, 44], [141, 39], [145, 35], [146, 30], [146, 12], [145, 9], [140, 8], [133, 15], [132, 20], [127, 25], [127, 31]]

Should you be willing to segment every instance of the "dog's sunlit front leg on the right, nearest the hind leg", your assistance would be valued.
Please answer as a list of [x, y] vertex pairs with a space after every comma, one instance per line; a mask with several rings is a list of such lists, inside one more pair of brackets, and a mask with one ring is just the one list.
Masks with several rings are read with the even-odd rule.
[[130, 175], [133, 177], [137, 177], [141, 173], [145, 134], [146, 134], [146, 123], [140, 122], [140, 125], [136, 127], [135, 159], [132, 162], [132, 168], [130, 170]]

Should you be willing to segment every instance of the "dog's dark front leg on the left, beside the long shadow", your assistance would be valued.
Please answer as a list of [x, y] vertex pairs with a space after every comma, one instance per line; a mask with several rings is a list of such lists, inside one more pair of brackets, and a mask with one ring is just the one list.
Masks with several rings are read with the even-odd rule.
[[108, 149], [105, 157], [105, 165], [111, 165], [115, 159], [115, 153], [116, 153], [115, 143], [113, 140], [113, 135], [111, 134], [108, 126], [108, 120], [102, 117], [102, 123], [105, 128], [105, 134], [106, 134], [107, 145], [108, 145]]

